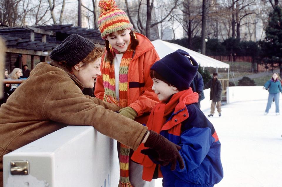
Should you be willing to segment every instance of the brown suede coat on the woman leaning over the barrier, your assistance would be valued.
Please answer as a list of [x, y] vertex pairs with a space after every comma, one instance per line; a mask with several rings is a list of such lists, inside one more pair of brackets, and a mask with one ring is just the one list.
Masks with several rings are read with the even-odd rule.
[[147, 130], [114, 112], [119, 107], [83, 95], [83, 85], [73, 74], [56, 62], [51, 64], [39, 63], [1, 105], [0, 186], [4, 154], [68, 125], [93, 126], [134, 150]]

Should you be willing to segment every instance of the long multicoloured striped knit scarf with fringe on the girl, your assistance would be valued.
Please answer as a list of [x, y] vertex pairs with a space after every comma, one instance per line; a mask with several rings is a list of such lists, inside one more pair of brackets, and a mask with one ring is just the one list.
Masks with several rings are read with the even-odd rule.
[[[110, 47], [110, 52], [113, 55], [122, 54], [115, 48]], [[115, 94], [115, 66], [114, 60], [110, 61], [105, 55], [104, 59], [104, 73], [103, 73], [103, 85], [105, 89], [104, 101], [108, 103], [113, 103], [122, 108], [127, 107], [127, 91], [128, 91], [128, 67], [129, 63], [134, 55], [134, 50], [131, 49], [131, 40], [127, 47], [127, 50], [122, 55], [122, 60], [120, 63], [120, 73], [119, 73], [119, 101]], [[133, 187], [129, 181], [129, 152], [130, 148], [123, 144], [120, 144], [119, 160], [120, 160], [120, 182], [119, 187]]]

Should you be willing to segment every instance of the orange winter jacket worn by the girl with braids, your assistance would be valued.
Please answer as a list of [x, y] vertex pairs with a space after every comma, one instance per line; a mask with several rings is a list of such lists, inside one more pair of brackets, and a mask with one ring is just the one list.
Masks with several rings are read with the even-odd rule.
[[[160, 57], [148, 38], [140, 33], [135, 33], [135, 35], [139, 44], [129, 64], [127, 103], [138, 114], [135, 120], [139, 123], [146, 123], [147, 118], [142, 115], [151, 112], [152, 108], [159, 102], [157, 95], [152, 90], [153, 81], [150, 77], [150, 68], [156, 61], [160, 60]], [[100, 66], [102, 74], [104, 73], [103, 60], [104, 57], [102, 57], [102, 65]], [[103, 100], [104, 92], [101, 75], [97, 77], [94, 95]]]

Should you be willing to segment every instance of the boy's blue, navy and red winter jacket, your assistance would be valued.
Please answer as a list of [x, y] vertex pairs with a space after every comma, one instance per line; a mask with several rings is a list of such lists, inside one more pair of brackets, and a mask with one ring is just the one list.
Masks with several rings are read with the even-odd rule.
[[223, 178], [220, 142], [212, 123], [195, 105], [186, 105], [168, 118], [160, 134], [182, 147], [184, 169], [161, 166], [164, 187], [213, 186]]

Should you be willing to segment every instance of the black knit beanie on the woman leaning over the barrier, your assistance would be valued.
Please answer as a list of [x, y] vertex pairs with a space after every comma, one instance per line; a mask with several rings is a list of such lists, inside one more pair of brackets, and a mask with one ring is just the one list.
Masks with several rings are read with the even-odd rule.
[[60, 45], [50, 52], [50, 58], [65, 61], [69, 67], [82, 61], [93, 49], [93, 42], [77, 34], [69, 35]]

